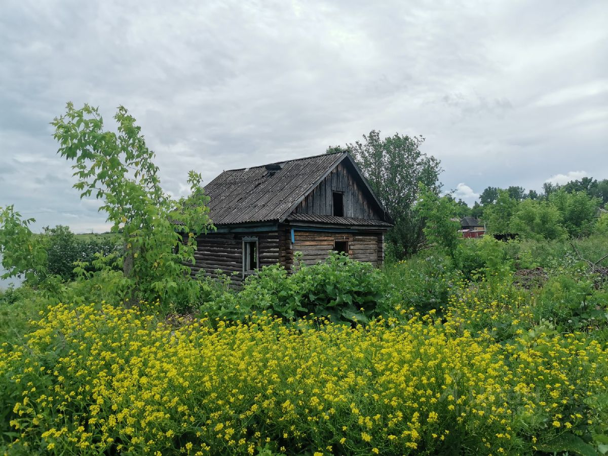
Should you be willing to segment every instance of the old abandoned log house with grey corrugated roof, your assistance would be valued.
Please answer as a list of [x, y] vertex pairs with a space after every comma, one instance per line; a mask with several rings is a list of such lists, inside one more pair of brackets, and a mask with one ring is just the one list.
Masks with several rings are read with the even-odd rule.
[[330, 250], [380, 266], [392, 219], [348, 153], [224, 171], [205, 187], [217, 230], [197, 237], [193, 274], [215, 277], [280, 263], [313, 264]]

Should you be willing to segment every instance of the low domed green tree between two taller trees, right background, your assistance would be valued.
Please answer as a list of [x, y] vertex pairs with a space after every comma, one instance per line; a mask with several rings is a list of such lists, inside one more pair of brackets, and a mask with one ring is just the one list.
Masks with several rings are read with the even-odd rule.
[[553, 204], [525, 199], [517, 205], [510, 230], [522, 238], [553, 240], [567, 235], [560, 220], [561, 214]]

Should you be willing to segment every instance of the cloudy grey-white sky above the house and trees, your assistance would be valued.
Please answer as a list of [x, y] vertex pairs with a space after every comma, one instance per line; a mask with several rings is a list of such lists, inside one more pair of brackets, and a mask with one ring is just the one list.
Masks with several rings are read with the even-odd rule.
[[4, 0], [0, 207], [108, 229], [49, 122], [125, 106], [162, 185], [423, 136], [444, 190], [608, 178], [608, 2]]

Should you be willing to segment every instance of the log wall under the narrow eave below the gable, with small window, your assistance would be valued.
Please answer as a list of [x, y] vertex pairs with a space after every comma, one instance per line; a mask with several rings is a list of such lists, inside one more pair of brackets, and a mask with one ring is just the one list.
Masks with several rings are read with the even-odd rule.
[[301, 260], [305, 264], [325, 260], [329, 251], [334, 250], [335, 241], [348, 241], [348, 256], [353, 260], [381, 266], [384, 259], [382, 234], [379, 233], [295, 231], [294, 240], [291, 251], [302, 252]]

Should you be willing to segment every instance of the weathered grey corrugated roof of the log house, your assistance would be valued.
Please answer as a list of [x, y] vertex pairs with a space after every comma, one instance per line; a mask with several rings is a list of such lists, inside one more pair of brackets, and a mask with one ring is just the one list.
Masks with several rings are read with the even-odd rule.
[[[353, 159], [345, 152], [224, 171], [205, 186], [210, 197], [211, 219], [216, 226], [282, 222], [345, 159], [361, 175]], [[362, 176], [361, 179], [371, 198], [382, 208], [365, 179]]]

